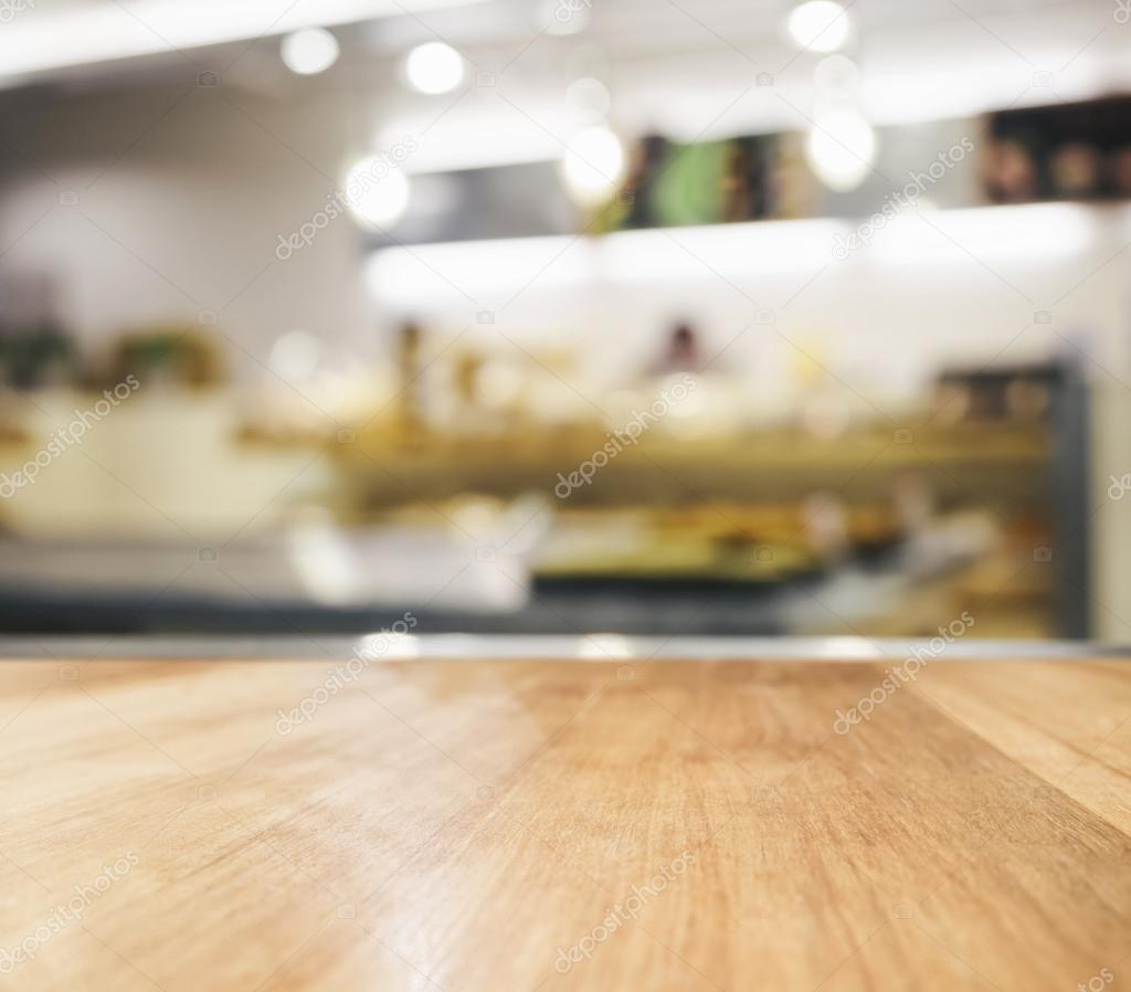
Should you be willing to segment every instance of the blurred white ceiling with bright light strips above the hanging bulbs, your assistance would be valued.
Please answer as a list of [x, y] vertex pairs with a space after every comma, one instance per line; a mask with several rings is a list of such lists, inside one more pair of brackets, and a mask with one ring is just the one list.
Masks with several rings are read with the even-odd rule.
[[[0, 33], [0, 86], [149, 85], [210, 58], [230, 61], [218, 42], [321, 23], [334, 26], [343, 44], [342, 63], [325, 77], [292, 77], [279, 62], [277, 41], [267, 37], [241, 57], [241, 78], [227, 81], [280, 98], [296, 87], [385, 88], [411, 118], [414, 97], [396, 95], [397, 60], [411, 45], [441, 37], [476, 68], [504, 72], [511, 93], [532, 109], [539, 100], [561, 102], [571, 75], [579, 75], [578, 52], [587, 51], [581, 61], [596, 64], [594, 74], [610, 83], [614, 121], [619, 114], [674, 136], [689, 130], [687, 122], [698, 132], [703, 121], [719, 117], [758, 74], [771, 76], [772, 88], [749, 94], [715, 130], [796, 127], [791, 105], [809, 102], [819, 57], [798, 52], [786, 37], [791, 0], [593, 0], [585, 32], [569, 37], [545, 32], [554, 2], [582, 0], [40, 2]], [[1131, 90], [1131, 25], [1114, 19], [1115, 0], [854, 0], [849, 6], [856, 31], [848, 53], [862, 68], [864, 103], [877, 123]], [[191, 59], [175, 50], [198, 44], [204, 48], [193, 49]], [[240, 43], [241, 51], [245, 45]], [[137, 55], [95, 61], [115, 48]], [[1037, 84], [1041, 74], [1051, 74], [1053, 83]], [[434, 101], [420, 106], [426, 120], [434, 118]], [[468, 114], [469, 133], [482, 127], [474, 100], [446, 122], [457, 124], [460, 113]], [[552, 119], [552, 110], [541, 113]]]

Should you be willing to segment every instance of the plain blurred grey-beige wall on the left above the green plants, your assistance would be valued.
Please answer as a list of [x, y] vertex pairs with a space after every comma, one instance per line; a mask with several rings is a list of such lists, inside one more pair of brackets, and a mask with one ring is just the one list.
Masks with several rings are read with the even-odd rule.
[[248, 353], [233, 355], [241, 378], [291, 329], [322, 337], [331, 362], [372, 355], [352, 223], [275, 257], [278, 235], [322, 206], [348, 154], [325, 98], [286, 103], [190, 79], [5, 113], [0, 281], [51, 274], [60, 316], [90, 346], [215, 311]]

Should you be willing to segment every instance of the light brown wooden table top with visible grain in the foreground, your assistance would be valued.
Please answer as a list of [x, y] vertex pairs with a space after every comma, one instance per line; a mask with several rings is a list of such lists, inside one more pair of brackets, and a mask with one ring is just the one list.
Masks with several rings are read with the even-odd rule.
[[1131, 990], [1131, 664], [336, 664], [0, 663], [0, 990]]

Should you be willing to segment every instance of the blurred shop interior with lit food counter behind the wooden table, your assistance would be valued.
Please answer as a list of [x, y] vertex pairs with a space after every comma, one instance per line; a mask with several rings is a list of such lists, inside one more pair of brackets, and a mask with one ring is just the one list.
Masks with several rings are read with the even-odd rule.
[[2, 628], [1126, 641], [1129, 19], [9, 0]]

